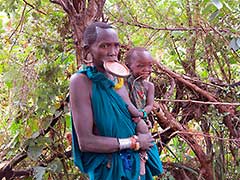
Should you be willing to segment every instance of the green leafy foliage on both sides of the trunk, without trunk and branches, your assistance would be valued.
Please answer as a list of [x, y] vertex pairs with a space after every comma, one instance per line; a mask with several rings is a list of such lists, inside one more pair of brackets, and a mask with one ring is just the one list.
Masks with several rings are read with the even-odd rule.
[[[0, 0], [0, 11], [1, 161], [11, 160], [27, 146], [28, 158], [18, 167], [33, 167], [36, 179], [86, 178], [63, 155], [69, 146], [65, 134], [71, 130], [65, 97], [69, 77], [76, 69], [68, 17], [60, 6], [48, 0]], [[205, 83], [199, 84], [219, 101], [240, 102], [240, 86], [234, 85], [240, 79], [237, 0], [109, 0], [104, 6], [104, 19], [116, 26], [123, 47], [144, 46], [170, 69], [189, 76], [196, 84]], [[157, 99], [166, 93], [163, 86], [170, 89], [170, 79], [165, 79], [155, 81]], [[181, 89], [179, 84], [177, 87]], [[179, 94], [184, 94], [182, 100], [205, 101], [184, 87], [175, 90], [169, 99], [178, 99]], [[174, 103], [167, 105], [169, 111], [176, 108]], [[228, 140], [229, 129], [224, 125], [228, 114], [215, 106], [181, 105], [195, 114], [187, 123], [190, 130], [214, 136], [210, 138], [210, 149], [207, 136], [196, 137], [204, 151], [213, 155], [214, 172], [220, 173], [215, 177], [239, 178], [239, 166], [235, 166], [240, 163], [239, 155], [233, 155], [234, 143]], [[179, 111], [178, 122], [187, 119], [187, 110]], [[236, 127], [239, 111], [235, 109]], [[46, 137], [40, 136], [39, 132], [60, 113], [56, 126]], [[194, 174], [199, 170], [193, 150], [178, 136], [164, 146], [161, 156], [164, 163], [181, 163], [182, 169], [188, 169], [186, 172]], [[166, 168], [168, 172], [162, 179], [173, 179], [170, 172], [174, 168]]]

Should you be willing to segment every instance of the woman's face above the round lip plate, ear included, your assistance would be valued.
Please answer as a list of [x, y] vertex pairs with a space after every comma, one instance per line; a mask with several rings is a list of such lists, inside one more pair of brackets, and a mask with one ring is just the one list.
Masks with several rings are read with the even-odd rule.
[[98, 70], [105, 71], [104, 61], [118, 61], [119, 41], [116, 31], [112, 28], [97, 28], [97, 39], [90, 46], [93, 64]]

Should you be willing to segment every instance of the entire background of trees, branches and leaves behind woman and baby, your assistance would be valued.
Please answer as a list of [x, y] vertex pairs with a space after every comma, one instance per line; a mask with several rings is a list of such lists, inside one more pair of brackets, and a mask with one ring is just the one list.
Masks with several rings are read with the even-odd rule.
[[121, 60], [144, 46], [159, 62], [155, 178], [240, 179], [239, 19], [238, 0], [0, 0], [0, 178], [87, 179], [71, 159], [68, 86], [101, 20]]

